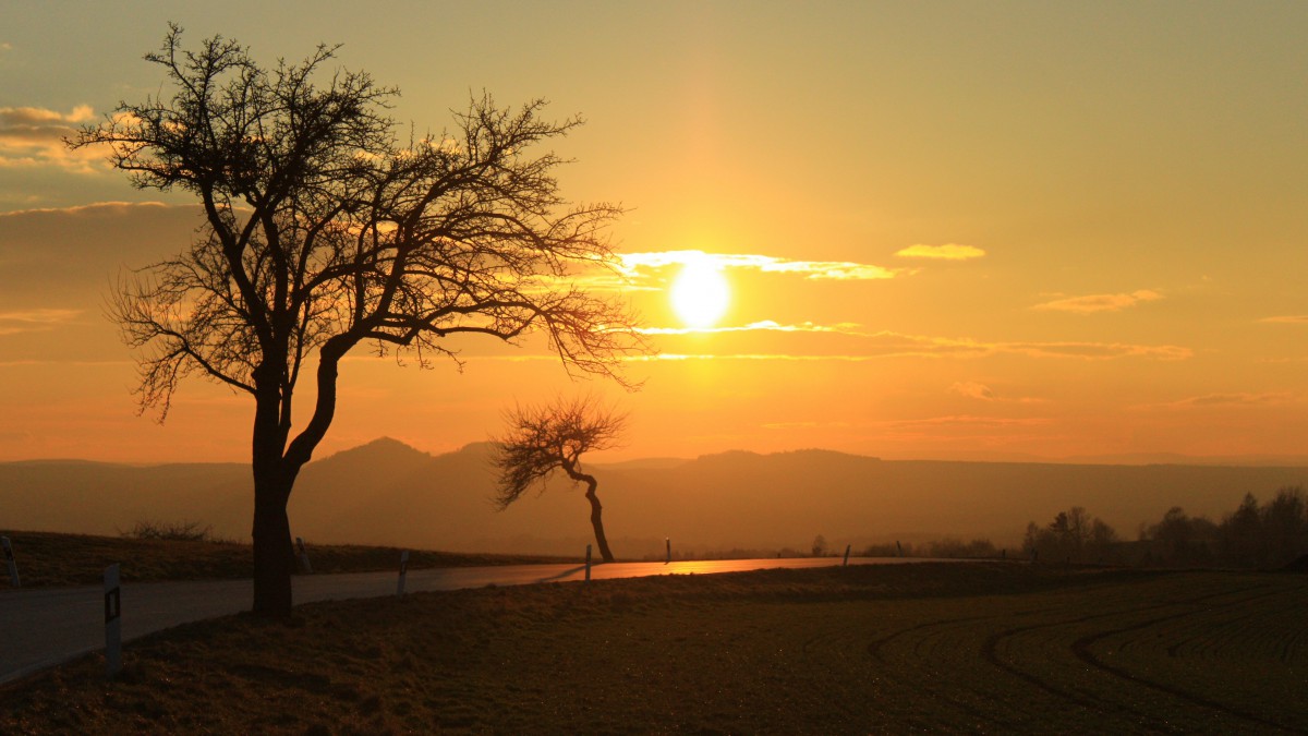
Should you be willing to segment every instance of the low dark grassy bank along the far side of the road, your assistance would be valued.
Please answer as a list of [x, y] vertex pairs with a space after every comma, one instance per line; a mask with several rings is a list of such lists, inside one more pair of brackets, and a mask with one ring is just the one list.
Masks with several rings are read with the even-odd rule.
[[[13, 542], [24, 588], [88, 585], [103, 579], [105, 567], [122, 564], [124, 581], [220, 580], [250, 578], [254, 553], [250, 545], [208, 540], [141, 540], [92, 537], [52, 532], [7, 532]], [[357, 545], [309, 545], [314, 574], [373, 572], [398, 570], [400, 550]], [[574, 559], [460, 554], [415, 550], [409, 568], [522, 564], [528, 562], [576, 562]], [[298, 563], [297, 563], [298, 564]], [[0, 568], [0, 589], [9, 575]]]

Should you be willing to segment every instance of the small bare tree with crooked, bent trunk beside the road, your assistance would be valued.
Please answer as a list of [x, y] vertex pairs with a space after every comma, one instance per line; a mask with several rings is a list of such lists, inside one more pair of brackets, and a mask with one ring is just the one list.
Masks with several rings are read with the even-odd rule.
[[599, 482], [581, 468], [582, 453], [617, 447], [627, 428], [627, 415], [595, 398], [557, 399], [545, 406], [518, 407], [506, 416], [509, 432], [496, 440], [493, 464], [500, 471], [496, 504], [501, 511], [532, 486], [544, 491], [556, 470], [577, 483], [586, 483], [590, 525], [604, 562], [613, 562], [600, 517], [603, 507], [595, 488]]

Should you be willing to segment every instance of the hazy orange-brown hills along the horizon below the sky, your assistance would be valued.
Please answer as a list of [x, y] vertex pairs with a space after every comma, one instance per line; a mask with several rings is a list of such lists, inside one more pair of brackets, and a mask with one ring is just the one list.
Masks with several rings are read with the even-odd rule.
[[[555, 482], [504, 512], [490, 498], [488, 444], [428, 454], [381, 439], [311, 462], [292, 494], [293, 533], [462, 551], [581, 554], [591, 541], [579, 490]], [[1180, 506], [1219, 520], [1245, 492], [1260, 499], [1308, 485], [1305, 466], [1071, 465], [883, 461], [829, 451], [727, 452], [589, 466], [619, 557], [676, 550], [807, 549], [988, 537], [1019, 543], [1083, 506], [1124, 538]], [[249, 537], [252, 492], [243, 464], [128, 466], [78, 461], [0, 464], [0, 525], [116, 534], [140, 520], [199, 520]]]

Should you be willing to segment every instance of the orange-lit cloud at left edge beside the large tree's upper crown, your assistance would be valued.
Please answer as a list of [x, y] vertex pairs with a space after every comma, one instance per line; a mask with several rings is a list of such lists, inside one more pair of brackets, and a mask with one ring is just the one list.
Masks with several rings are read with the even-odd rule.
[[0, 107], [0, 168], [56, 166], [77, 173], [95, 170], [105, 157], [93, 147], [69, 151], [64, 139], [94, 113], [78, 105], [71, 113], [42, 107]]

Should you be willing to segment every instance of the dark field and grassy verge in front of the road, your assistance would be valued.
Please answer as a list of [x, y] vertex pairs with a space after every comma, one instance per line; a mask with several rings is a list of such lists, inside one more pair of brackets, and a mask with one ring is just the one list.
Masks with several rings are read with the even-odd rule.
[[10, 732], [1308, 731], [1308, 579], [926, 563], [230, 617], [0, 689]]

